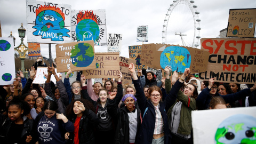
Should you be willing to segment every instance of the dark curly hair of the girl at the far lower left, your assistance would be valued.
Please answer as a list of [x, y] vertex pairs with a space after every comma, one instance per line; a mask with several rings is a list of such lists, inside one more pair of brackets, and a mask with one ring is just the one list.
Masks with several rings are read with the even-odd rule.
[[21, 110], [23, 110], [21, 117], [26, 116], [30, 113], [30, 107], [28, 105], [28, 102], [21, 100], [20, 95], [18, 95], [18, 97], [13, 97], [7, 109], [9, 109], [9, 107], [13, 105], [18, 106]]

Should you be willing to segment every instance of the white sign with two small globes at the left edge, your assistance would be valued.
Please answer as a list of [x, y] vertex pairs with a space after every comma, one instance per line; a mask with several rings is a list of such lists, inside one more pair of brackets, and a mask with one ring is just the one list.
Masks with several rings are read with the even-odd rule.
[[13, 84], [15, 62], [13, 38], [0, 37], [0, 85]]

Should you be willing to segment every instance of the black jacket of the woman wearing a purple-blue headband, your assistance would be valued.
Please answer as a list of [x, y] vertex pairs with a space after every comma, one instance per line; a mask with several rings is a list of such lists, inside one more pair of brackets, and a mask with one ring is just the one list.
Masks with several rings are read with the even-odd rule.
[[[139, 132], [140, 124], [141, 124], [141, 114], [140, 109], [135, 107], [137, 110], [137, 133]], [[116, 134], [114, 143], [127, 143], [129, 144], [129, 116], [127, 114], [127, 108], [117, 108], [116, 100], [108, 100], [107, 110], [109, 115], [115, 119], [114, 122], [116, 124]], [[136, 136], [137, 137], [137, 136]]]

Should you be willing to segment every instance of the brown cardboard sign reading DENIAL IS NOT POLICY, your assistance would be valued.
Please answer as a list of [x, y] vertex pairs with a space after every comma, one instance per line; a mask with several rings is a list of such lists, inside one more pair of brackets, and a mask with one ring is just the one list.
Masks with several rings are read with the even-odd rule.
[[230, 9], [227, 37], [254, 37], [256, 9]]

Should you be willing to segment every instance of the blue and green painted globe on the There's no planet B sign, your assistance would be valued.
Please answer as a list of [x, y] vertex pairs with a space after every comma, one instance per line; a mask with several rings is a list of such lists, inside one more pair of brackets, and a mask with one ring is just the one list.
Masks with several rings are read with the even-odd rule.
[[93, 47], [88, 43], [78, 43], [75, 49], [71, 50], [70, 58], [72, 64], [76, 67], [87, 67], [91, 65], [94, 59]]

